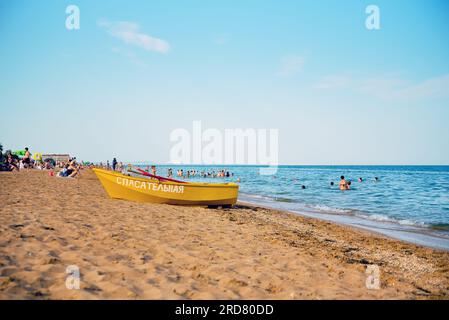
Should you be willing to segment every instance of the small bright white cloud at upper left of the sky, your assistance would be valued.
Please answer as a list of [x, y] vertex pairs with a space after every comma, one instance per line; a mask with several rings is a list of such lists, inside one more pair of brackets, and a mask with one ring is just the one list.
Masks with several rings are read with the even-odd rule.
[[107, 20], [99, 20], [98, 26], [105, 28], [111, 36], [146, 51], [159, 53], [167, 53], [170, 51], [170, 45], [167, 41], [139, 32], [139, 25], [135, 22], [109, 22]]

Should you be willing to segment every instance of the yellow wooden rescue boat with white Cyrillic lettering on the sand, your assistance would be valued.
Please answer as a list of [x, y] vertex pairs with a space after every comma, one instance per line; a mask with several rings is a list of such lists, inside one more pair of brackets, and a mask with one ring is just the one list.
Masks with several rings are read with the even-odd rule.
[[92, 169], [111, 198], [178, 205], [230, 206], [237, 202], [236, 183], [172, 182]]

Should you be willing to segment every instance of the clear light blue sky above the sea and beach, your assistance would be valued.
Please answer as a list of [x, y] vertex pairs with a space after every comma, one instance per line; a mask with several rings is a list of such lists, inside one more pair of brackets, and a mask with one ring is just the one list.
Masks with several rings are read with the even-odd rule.
[[444, 0], [2, 1], [0, 142], [163, 163], [201, 120], [279, 129], [283, 164], [449, 164], [448, 36]]

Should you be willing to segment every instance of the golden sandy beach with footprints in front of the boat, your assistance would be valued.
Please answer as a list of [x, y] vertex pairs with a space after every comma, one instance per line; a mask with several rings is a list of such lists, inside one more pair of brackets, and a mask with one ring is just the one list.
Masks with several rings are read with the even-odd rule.
[[[1, 299], [449, 298], [448, 252], [367, 231], [246, 204], [113, 200], [91, 170], [1, 172], [0, 185]], [[366, 287], [372, 264], [380, 289]]]

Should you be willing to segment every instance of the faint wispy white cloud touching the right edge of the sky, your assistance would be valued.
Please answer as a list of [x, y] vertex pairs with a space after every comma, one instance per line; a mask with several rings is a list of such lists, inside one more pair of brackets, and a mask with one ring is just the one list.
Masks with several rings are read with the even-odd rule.
[[426, 79], [419, 83], [410, 83], [402, 78], [354, 77], [330, 75], [323, 77], [313, 88], [320, 90], [346, 90], [382, 100], [418, 100], [424, 98], [449, 97], [449, 74]]

